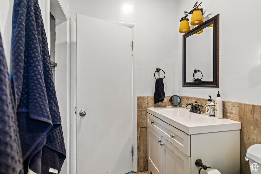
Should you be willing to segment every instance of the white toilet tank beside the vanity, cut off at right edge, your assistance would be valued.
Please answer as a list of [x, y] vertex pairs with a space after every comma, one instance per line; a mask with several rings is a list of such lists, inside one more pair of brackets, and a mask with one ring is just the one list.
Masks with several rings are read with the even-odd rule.
[[249, 161], [251, 174], [261, 174], [261, 144], [250, 146], [247, 149], [245, 160]]

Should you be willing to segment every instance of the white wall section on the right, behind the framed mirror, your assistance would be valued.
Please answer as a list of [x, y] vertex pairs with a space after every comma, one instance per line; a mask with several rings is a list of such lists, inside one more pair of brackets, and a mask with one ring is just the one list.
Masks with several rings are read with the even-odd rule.
[[[216, 90], [220, 90], [221, 98], [234, 101], [261, 105], [261, 1], [208, 0], [202, 2], [200, 8], [209, 18], [220, 14], [219, 27], [219, 88], [189, 88], [182, 87], [182, 34], [178, 34], [178, 58], [174, 77], [173, 93], [178, 95], [216, 98]], [[177, 17], [184, 15], [183, 11], [190, 11], [194, 0], [179, 0]], [[235, 14], [235, 15], [233, 15]], [[178, 25], [179, 20], [176, 19]], [[174, 29], [178, 32], [178, 27]]]

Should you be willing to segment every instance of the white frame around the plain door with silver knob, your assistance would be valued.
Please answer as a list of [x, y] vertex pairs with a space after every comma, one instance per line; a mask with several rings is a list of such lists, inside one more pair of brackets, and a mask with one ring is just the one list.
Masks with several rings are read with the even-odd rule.
[[[111, 21], [109, 21], [111, 22]], [[132, 55], [132, 170], [137, 172], [137, 24], [112, 22], [132, 28], [133, 55]], [[76, 173], [76, 22], [70, 17], [70, 171]], [[69, 121], [69, 120], [67, 120]]]

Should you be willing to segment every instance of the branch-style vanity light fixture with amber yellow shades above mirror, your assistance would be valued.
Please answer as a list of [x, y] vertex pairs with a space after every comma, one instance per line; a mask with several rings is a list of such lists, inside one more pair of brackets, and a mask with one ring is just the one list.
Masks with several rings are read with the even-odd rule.
[[191, 11], [189, 11], [189, 12], [184, 11], [183, 12], [186, 15], [180, 19], [180, 22], [181, 22], [180, 23], [180, 28], [179, 28], [179, 32], [180, 33], [187, 33], [187, 32], [190, 31], [189, 26], [187, 26], [188, 25], [188, 19], [186, 18], [188, 16], [188, 14], [192, 14], [190, 25], [196, 26], [196, 25], [200, 25], [200, 24], [202, 24], [204, 22], [203, 21], [203, 9], [202, 8], [198, 8], [201, 3], [198, 4], [198, 1], [197, 1]]

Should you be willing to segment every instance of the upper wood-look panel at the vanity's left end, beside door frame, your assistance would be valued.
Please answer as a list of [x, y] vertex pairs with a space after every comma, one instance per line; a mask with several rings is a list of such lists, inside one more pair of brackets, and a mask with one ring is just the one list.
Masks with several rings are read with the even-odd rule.
[[147, 127], [147, 97], [137, 97], [137, 127]]

